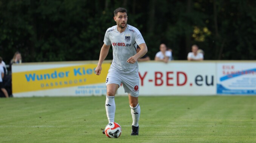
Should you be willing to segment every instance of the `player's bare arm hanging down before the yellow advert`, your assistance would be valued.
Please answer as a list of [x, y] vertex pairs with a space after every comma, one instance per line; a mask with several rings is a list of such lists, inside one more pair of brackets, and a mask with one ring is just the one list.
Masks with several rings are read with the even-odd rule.
[[103, 61], [105, 60], [106, 56], [108, 55], [109, 48], [110, 48], [110, 45], [103, 44], [103, 46], [100, 50], [99, 62], [95, 69], [96, 75], [100, 75], [100, 72], [102, 70], [101, 65], [102, 65]]

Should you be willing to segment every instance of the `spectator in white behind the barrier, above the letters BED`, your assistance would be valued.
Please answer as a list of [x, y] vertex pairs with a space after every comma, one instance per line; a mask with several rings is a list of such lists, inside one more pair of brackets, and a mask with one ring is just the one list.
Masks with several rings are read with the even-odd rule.
[[171, 51], [167, 51], [165, 44], [160, 45], [160, 51], [156, 53], [155, 60], [167, 63], [171, 60]]

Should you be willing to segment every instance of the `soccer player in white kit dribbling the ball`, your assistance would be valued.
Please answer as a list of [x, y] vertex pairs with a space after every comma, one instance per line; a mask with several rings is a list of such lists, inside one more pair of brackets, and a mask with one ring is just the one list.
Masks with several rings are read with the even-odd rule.
[[[139, 32], [133, 26], [127, 24], [127, 11], [124, 8], [117, 8], [114, 11], [116, 26], [106, 30], [104, 44], [100, 50], [98, 65], [95, 69], [97, 75], [102, 70], [102, 62], [108, 55], [110, 46], [113, 47], [113, 62], [106, 77], [106, 115], [108, 122], [114, 122], [116, 105], [115, 94], [121, 83], [125, 92], [128, 93], [133, 118], [131, 135], [139, 135], [140, 105], [139, 96], [139, 67], [137, 59], [148, 51], [147, 45]], [[140, 51], [136, 52], [139, 45]]]

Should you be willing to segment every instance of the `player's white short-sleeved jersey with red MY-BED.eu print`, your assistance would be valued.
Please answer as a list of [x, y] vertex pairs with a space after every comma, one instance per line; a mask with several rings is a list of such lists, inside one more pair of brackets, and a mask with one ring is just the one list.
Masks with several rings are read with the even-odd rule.
[[113, 47], [113, 62], [110, 69], [123, 74], [132, 74], [139, 71], [138, 62], [126, 62], [134, 56], [137, 51], [137, 45], [145, 43], [139, 30], [127, 24], [124, 32], [117, 31], [117, 26], [110, 27], [106, 30], [104, 41], [105, 45]]

